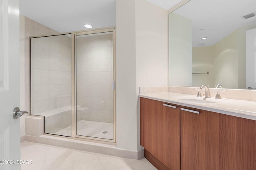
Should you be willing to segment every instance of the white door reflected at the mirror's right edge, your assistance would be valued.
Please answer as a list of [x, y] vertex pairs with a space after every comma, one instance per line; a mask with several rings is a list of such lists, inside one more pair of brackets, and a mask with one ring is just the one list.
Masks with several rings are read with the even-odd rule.
[[256, 29], [246, 31], [246, 89], [256, 90]]

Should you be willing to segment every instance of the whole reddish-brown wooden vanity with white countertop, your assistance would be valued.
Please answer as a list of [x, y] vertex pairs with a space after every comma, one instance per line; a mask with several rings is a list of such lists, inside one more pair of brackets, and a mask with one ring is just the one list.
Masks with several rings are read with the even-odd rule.
[[255, 120], [254, 101], [140, 94], [140, 143], [158, 169], [255, 170]]

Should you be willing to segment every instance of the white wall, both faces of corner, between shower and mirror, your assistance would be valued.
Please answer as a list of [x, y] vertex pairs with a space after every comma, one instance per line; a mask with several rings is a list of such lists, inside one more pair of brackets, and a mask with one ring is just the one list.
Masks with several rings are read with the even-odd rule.
[[168, 11], [116, 0], [117, 147], [140, 150], [140, 86], [168, 85]]

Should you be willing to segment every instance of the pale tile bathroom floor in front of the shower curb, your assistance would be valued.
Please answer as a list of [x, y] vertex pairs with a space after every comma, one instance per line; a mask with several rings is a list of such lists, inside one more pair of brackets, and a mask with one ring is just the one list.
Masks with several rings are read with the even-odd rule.
[[21, 143], [21, 170], [157, 170], [145, 158], [119, 158], [38, 143]]

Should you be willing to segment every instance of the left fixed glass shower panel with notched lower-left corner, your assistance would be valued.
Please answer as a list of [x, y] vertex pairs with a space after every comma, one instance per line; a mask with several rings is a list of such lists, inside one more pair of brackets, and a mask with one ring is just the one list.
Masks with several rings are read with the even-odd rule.
[[30, 41], [31, 115], [44, 116], [44, 133], [71, 137], [71, 34]]

